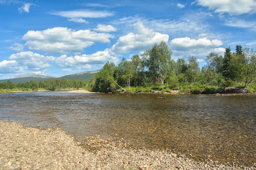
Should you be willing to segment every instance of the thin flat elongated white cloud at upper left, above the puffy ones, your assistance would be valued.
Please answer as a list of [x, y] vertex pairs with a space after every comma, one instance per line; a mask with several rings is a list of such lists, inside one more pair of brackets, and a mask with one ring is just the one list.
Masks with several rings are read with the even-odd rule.
[[57, 11], [51, 13], [66, 18], [102, 18], [111, 17], [114, 13], [109, 11], [91, 11], [91, 10], [74, 10], [74, 11]]

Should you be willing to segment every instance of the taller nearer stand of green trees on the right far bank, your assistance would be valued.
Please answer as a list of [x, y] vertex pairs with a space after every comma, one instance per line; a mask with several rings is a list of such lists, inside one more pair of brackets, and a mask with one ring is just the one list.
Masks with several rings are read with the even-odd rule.
[[129, 61], [123, 58], [117, 66], [107, 62], [88, 87], [94, 92], [152, 86], [172, 89], [189, 85], [253, 90], [249, 88], [256, 80], [256, 53], [252, 48], [237, 45], [236, 52], [226, 48], [224, 57], [211, 52], [207, 56], [207, 65], [201, 69], [195, 56], [174, 61], [171, 55], [171, 49], [162, 41], [145, 50], [141, 57], [133, 55]]

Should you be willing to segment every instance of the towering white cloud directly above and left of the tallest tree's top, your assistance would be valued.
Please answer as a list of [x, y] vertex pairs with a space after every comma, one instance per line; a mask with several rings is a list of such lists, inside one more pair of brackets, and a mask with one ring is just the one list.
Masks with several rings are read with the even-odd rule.
[[112, 46], [112, 52], [122, 54], [130, 51], [143, 51], [152, 47], [160, 41], [168, 41], [169, 35], [154, 32], [151, 29], [145, 28], [143, 24], [135, 24], [135, 33], [128, 33], [119, 37], [116, 44]]

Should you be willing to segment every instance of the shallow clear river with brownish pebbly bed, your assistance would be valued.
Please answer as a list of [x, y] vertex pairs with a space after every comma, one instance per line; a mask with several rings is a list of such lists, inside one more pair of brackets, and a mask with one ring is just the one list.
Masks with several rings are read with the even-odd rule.
[[199, 161], [256, 162], [256, 95], [0, 94], [0, 119], [59, 127], [78, 139], [122, 137]]

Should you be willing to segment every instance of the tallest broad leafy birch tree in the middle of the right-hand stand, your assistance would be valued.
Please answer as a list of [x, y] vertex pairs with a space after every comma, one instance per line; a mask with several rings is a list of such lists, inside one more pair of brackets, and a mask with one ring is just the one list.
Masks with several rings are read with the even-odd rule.
[[143, 54], [143, 59], [152, 81], [164, 87], [165, 79], [172, 68], [172, 51], [165, 41], [155, 44]]

